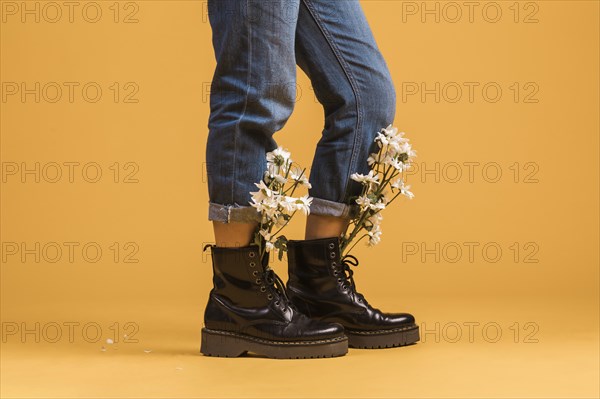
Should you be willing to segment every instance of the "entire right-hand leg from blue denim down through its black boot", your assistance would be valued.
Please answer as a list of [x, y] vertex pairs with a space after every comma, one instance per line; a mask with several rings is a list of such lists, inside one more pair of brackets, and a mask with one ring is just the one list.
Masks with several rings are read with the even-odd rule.
[[375, 134], [393, 122], [394, 85], [358, 1], [302, 0], [296, 58], [325, 108], [325, 127], [310, 174], [314, 197], [306, 240], [290, 240], [288, 294], [298, 309], [344, 326], [349, 345], [386, 348], [419, 340], [409, 313], [383, 313], [358, 293], [338, 236], [356, 210]]

